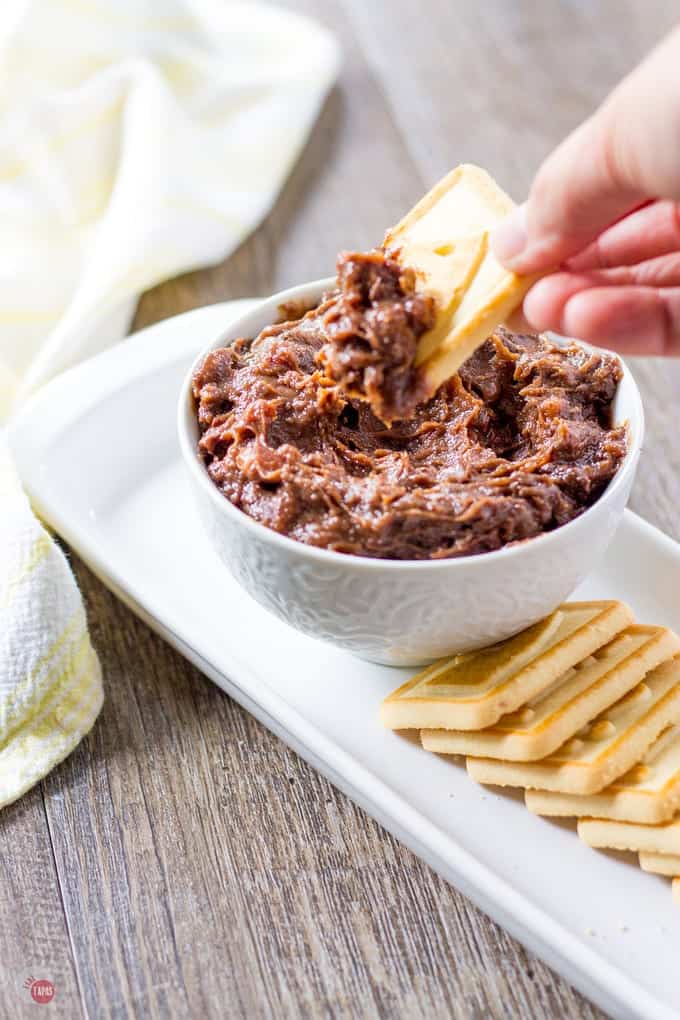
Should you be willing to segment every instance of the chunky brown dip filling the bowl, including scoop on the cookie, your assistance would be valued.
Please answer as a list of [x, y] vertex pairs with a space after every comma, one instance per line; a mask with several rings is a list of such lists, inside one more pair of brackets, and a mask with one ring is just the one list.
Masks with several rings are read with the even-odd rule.
[[211, 351], [193, 394], [214, 484], [280, 534], [394, 560], [490, 552], [581, 514], [626, 454], [618, 359], [500, 328], [419, 403], [431, 317], [397, 263], [347, 254], [316, 308]]

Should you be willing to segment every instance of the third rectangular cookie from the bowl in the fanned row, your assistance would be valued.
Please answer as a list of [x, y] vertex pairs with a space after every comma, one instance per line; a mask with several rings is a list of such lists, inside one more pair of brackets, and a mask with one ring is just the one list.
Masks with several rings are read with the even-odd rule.
[[596, 794], [639, 762], [659, 734], [678, 722], [680, 657], [657, 666], [641, 683], [542, 761], [468, 758], [467, 768], [477, 782]]

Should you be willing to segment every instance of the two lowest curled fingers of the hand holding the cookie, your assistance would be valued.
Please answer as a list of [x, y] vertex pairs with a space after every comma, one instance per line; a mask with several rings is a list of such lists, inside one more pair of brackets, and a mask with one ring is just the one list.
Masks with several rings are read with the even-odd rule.
[[[550, 292], [538, 291], [548, 282], [554, 284]], [[532, 288], [524, 310], [534, 328], [622, 354], [680, 354], [680, 286], [601, 287], [593, 286], [591, 275], [559, 273]]]

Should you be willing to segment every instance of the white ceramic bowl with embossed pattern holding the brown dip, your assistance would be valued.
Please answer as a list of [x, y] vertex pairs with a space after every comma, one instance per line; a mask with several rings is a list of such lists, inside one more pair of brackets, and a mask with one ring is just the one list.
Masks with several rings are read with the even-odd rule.
[[[516, 546], [453, 560], [376, 560], [315, 549], [232, 506], [197, 454], [192, 375], [209, 350], [255, 337], [284, 302], [315, 304], [331, 279], [295, 287], [229, 324], [203, 351], [179, 397], [179, 444], [217, 554], [262, 606], [312, 638], [389, 665], [419, 665], [508, 638], [552, 612], [593, 568], [628, 500], [643, 434], [642, 404], [627, 368], [614, 405], [629, 422], [629, 450], [596, 503], [568, 524]], [[616, 594], [616, 593], [613, 593]]]

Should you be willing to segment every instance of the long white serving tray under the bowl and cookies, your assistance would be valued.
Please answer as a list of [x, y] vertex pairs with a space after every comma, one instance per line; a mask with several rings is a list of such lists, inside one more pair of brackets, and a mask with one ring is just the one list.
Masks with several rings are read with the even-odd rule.
[[[167, 319], [43, 389], [9, 434], [35, 506], [206, 676], [586, 996], [615, 1017], [677, 1017], [668, 880], [382, 729], [380, 701], [411, 671], [303, 636], [216, 561], [179, 462], [175, 403], [199, 349], [245, 304]], [[575, 597], [622, 599], [639, 621], [680, 630], [679, 576], [680, 546], [627, 511]]]

